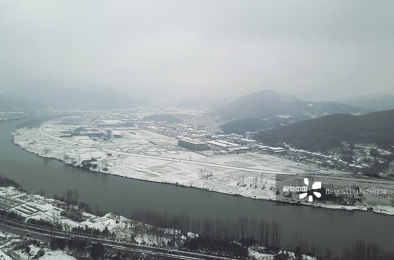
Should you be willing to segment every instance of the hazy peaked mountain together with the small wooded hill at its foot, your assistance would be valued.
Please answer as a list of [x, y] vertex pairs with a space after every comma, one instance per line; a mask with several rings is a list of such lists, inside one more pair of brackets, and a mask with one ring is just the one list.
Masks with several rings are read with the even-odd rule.
[[[356, 99], [354, 102], [356, 103]], [[374, 102], [378, 102], [378, 99]], [[389, 102], [387, 105], [390, 107]], [[244, 135], [246, 132], [273, 129], [330, 114], [358, 115], [376, 111], [371, 107], [364, 108], [331, 101], [304, 101], [284, 93], [263, 90], [239, 97], [223, 108], [215, 110], [214, 114], [228, 120], [221, 126], [225, 133]]]

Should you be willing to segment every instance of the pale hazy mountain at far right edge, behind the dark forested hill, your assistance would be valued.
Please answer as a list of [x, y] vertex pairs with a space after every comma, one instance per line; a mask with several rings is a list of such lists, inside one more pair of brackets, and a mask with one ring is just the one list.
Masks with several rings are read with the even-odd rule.
[[394, 96], [378, 92], [349, 97], [341, 100], [341, 102], [375, 111], [394, 109]]

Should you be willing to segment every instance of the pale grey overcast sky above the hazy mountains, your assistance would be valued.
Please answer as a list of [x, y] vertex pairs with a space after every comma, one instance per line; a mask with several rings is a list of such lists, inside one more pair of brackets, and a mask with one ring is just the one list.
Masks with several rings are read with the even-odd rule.
[[0, 90], [394, 95], [394, 1], [0, 1]]

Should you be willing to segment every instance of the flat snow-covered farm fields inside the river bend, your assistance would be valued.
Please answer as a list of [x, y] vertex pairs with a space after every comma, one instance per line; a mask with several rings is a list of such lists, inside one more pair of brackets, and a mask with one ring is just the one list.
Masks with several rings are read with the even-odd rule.
[[[123, 136], [113, 137], [111, 141], [93, 140], [87, 135], [61, 137], [65, 131], [78, 127], [96, 130], [82, 122], [72, 125], [53, 122], [39, 129], [16, 130], [13, 139], [15, 144], [27, 151], [74, 165], [94, 158], [97, 161], [92, 163], [97, 164], [96, 170], [109, 174], [257, 199], [291, 202], [291, 199], [284, 197], [283, 187], [295, 186], [302, 181], [306, 172], [303, 168], [310, 167], [300, 162], [256, 152], [239, 155], [213, 155], [208, 152], [203, 155], [179, 148], [173, 137], [136, 127], [111, 128], [112, 136]], [[315, 178], [314, 181], [322, 181], [326, 188], [346, 189], [357, 186], [360, 189], [384, 189], [386, 194], [365, 195], [362, 203], [354, 206], [311, 204], [307, 201], [303, 203], [358, 210], [371, 207], [375, 212], [394, 214], [393, 184], [336, 179], [335, 177], [346, 177], [347, 173], [313, 167], [322, 176], [334, 177]], [[292, 172], [293, 175], [282, 175], [287, 172]]]

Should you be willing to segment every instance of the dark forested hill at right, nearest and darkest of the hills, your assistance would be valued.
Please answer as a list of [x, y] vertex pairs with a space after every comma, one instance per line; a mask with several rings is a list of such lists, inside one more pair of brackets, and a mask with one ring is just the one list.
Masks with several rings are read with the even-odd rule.
[[376, 143], [390, 149], [394, 145], [394, 109], [360, 116], [334, 114], [262, 131], [254, 136], [264, 144], [286, 143], [307, 151], [326, 151], [341, 141]]

